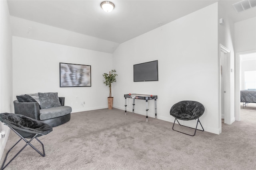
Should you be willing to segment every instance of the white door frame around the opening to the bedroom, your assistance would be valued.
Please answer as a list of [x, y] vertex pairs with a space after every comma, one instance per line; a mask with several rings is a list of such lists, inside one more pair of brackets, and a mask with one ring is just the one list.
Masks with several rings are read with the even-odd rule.
[[235, 120], [240, 121], [240, 59], [241, 55], [256, 53], [256, 50], [236, 53], [235, 58]]

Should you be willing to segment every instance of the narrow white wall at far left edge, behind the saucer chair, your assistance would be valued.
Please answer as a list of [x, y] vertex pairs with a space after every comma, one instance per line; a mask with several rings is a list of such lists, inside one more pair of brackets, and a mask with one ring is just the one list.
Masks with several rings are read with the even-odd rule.
[[[12, 113], [12, 33], [10, 14], [6, 0], [0, 1], [0, 113]], [[10, 128], [0, 122], [0, 131], [6, 131], [0, 139], [0, 159], [4, 152]]]

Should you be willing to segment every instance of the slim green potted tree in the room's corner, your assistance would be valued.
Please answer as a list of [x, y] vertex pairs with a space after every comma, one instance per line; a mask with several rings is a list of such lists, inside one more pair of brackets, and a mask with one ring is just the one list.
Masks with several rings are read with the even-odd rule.
[[105, 81], [103, 80], [103, 83], [109, 87], [108, 109], [112, 109], [112, 107], [113, 107], [113, 99], [114, 98], [111, 96], [111, 83], [116, 82], [117, 74], [115, 72], [116, 72], [116, 70], [111, 70], [109, 72], [109, 74], [107, 74], [107, 73], [102, 74], [103, 77], [105, 78]]

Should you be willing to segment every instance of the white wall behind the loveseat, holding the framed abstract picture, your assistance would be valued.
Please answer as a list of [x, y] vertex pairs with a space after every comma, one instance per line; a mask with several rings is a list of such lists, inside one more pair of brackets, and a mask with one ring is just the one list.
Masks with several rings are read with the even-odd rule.
[[[14, 100], [20, 94], [58, 92], [72, 112], [108, 107], [102, 74], [112, 69], [112, 54], [15, 36], [12, 41]], [[60, 88], [59, 63], [91, 65], [92, 86]]]

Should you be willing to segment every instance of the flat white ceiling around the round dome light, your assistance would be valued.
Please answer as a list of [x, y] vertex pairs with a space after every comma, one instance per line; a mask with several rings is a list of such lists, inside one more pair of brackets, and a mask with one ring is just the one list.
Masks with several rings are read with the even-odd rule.
[[[111, 0], [110, 13], [98, 0], [8, 0], [8, 8], [14, 17], [120, 44], [217, 1]], [[255, 8], [236, 13], [232, 4], [239, 0], [222, 2], [234, 22], [256, 16]]]

